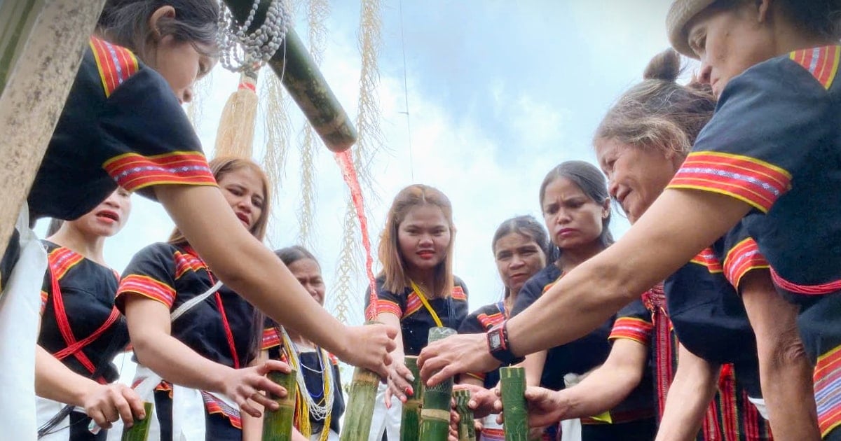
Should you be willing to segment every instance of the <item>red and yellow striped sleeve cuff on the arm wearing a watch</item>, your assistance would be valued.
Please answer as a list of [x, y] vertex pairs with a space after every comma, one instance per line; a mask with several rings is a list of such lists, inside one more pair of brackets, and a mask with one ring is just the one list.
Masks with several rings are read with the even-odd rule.
[[767, 213], [791, 189], [791, 174], [749, 156], [703, 151], [690, 153], [667, 188], [716, 192]]

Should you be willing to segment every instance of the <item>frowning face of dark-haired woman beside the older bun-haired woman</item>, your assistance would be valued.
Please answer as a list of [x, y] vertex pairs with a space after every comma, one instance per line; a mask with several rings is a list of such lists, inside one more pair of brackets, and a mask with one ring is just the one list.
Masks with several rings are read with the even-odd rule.
[[546, 186], [542, 210], [552, 243], [560, 249], [575, 249], [599, 239], [610, 201], [595, 202], [573, 181], [559, 177]]

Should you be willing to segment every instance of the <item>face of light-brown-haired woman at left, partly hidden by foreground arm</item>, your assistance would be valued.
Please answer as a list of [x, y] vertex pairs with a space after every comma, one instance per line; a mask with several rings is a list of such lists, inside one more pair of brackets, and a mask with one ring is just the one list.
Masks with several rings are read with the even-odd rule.
[[221, 176], [219, 187], [236, 218], [252, 231], [266, 203], [260, 176], [250, 167], [240, 167]]

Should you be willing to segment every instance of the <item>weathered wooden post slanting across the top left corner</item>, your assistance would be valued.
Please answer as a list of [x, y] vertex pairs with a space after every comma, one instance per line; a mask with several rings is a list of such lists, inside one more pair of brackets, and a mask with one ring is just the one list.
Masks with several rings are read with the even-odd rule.
[[0, 255], [105, 0], [0, 2]]

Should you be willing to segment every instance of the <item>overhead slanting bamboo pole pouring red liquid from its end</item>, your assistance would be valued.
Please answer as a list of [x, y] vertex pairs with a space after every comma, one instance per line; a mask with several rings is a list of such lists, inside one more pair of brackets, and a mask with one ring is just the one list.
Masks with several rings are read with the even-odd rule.
[[[262, 24], [269, 3], [270, 0], [261, 1], [253, 21], [254, 27]], [[225, 4], [234, 17], [244, 23], [253, 3], [252, 0], [225, 0]], [[268, 65], [280, 77], [283, 87], [298, 103], [328, 149], [338, 153], [357, 142], [357, 129], [292, 27], [288, 27], [283, 45]]]

